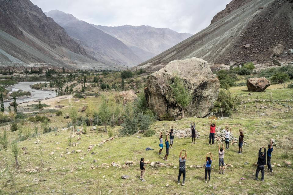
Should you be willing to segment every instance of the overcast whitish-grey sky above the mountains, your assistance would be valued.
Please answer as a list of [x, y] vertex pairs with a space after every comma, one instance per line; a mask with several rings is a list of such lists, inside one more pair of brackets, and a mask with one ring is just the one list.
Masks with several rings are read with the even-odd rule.
[[195, 34], [231, 0], [31, 0], [43, 12], [58, 9], [88, 23], [170, 28]]

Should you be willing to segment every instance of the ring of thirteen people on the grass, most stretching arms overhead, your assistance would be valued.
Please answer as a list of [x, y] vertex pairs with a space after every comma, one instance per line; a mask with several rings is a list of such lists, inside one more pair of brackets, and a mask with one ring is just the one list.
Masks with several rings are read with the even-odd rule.
[[[214, 121], [214, 122], [213, 122]], [[195, 125], [195, 124], [194, 124]], [[195, 126], [191, 125], [191, 137], [192, 137], [192, 144], [195, 144], [195, 137], [196, 137], [196, 131], [195, 131]], [[210, 124], [210, 135], [209, 135], [209, 145], [211, 145], [211, 140], [212, 140], [212, 145], [214, 145], [214, 139], [215, 139], [215, 126], [216, 126], [216, 120], [212, 119], [211, 124]], [[229, 142], [230, 142], [230, 133], [232, 131], [231, 126], [226, 126], [225, 127], [226, 131], [225, 131], [225, 144], [226, 144], [226, 148], [225, 149], [229, 149]], [[242, 129], [239, 129], [239, 138], [238, 138], [238, 147], [239, 147], [239, 151], [238, 153], [241, 154], [242, 153], [242, 146], [243, 146], [243, 138], [244, 138], [244, 134]], [[169, 144], [169, 140], [168, 140], [168, 136], [170, 138], [170, 144]], [[159, 144], [159, 155], [161, 155], [161, 152], [163, 150], [163, 133], [160, 132], [159, 134], [159, 140], [160, 140], [160, 144]], [[266, 153], [266, 148], [265, 147], [261, 147], [259, 149], [259, 157], [258, 157], [258, 161], [257, 161], [257, 169], [255, 172], [255, 180], [258, 180], [258, 175], [259, 175], [259, 171], [261, 171], [262, 173], [262, 181], [264, 181], [264, 165], [267, 164], [267, 168], [268, 170], [270, 170], [270, 173], [273, 172], [272, 166], [271, 166], [271, 153], [273, 151], [273, 139], [270, 140], [270, 144], [268, 145], [268, 153]], [[170, 127], [170, 132], [166, 133], [166, 139], [165, 139], [165, 145], [166, 145], [166, 154], [165, 157], [163, 158], [165, 161], [167, 161], [168, 155], [169, 155], [169, 148], [172, 148], [172, 145], [174, 143], [174, 131], [173, 131], [173, 126]], [[222, 147], [221, 147], [222, 145]], [[262, 148], [264, 148], [264, 152], [262, 152]], [[219, 174], [225, 174], [225, 162], [224, 162], [224, 153], [225, 153], [225, 149], [224, 149], [224, 144], [221, 142], [219, 143]], [[185, 151], [185, 154], [182, 155], [182, 152]], [[209, 156], [210, 155], [210, 156]], [[182, 186], [185, 185], [185, 176], [186, 176], [186, 168], [185, 168], [185, 163], [186, 163], [186, 158], [187, 158], [187, 151], [185, 149], [180, 151], [179, 154], [179, 174], [178, 174], [178, 185], [180, 185], [180, 178], [181, 175], [183, 175], [183, 182], [182, 182]], [[267, 161], [266, 161], [267, 160]], [[209, 183], [210, 179], [211, 179], [211, 165], [212, 165], [212, 153], [208, 152], [205, 156], [205, 183]], [[144, 180], [144, 172], [145, 172], [145, 165], [144, 165], [144, 159], [141, 158], [140, 162], [140, 180], [141, 181], [145, 181]], [[221, 171], [222, 168], [222, 171]], [[208, 178], [207, 178], [208, 176]], [[207, 180], [208, 179], [208, 180]]]

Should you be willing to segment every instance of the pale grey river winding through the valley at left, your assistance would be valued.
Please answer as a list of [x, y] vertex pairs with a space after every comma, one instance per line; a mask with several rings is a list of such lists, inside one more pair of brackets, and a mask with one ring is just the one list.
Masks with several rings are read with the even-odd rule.
[[[29, 98], [16, 98], [16, 102], [23, 103], [26, 101], [35, 101], [35, 100], [40, 100], [40, 99], [48, 99], [48, 98], [54, 98], [56, 97], [56, 92], [55, 91], [45, 91], [45, 90], [36, 90], [32, 89], [31, 85], [35, 83], [42, 83], [42, 82], [19, 82], [16, 85], [6, 87], [7, 90], [9, 91], [18, 91], [18, 90], [23, 90], [23, 91], [29, 91], [31, 92], [31, 97]], [[10, 100], [12, 102], [13, 99]], [[38, 103], [36, 103], [38, 104]], [[8, 107], [9, 102], [4, 102], [4, 107]]]

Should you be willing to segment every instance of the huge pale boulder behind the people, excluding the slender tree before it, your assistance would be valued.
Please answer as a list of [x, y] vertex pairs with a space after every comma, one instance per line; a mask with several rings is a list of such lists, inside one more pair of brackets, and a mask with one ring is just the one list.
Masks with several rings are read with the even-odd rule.
[[193, 95], [191, 105], [186, 108], [185, 114], [198, 117], [207, 115], [218, 98], [220, 84], [208, 62], [199, 58], [175, 60], [151, 74], [144, 89], [148, 107], [161, 120], [164, 116], [181, 118], [182, 110], [172, 97], [169, 86], [174, 76], [183, 78]]

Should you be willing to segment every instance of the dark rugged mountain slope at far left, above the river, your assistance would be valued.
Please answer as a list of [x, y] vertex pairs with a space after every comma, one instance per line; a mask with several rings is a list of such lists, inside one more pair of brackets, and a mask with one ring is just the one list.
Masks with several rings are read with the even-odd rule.
[[[98, 62], [29, 0], [0, 0], [0, 65], [113, 67]], [[110, 63], [109, 63], [110, 64]]]

